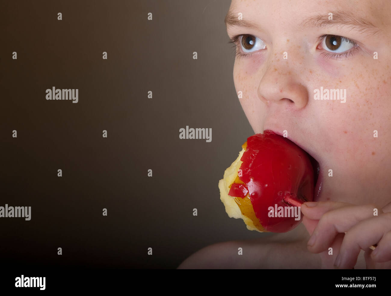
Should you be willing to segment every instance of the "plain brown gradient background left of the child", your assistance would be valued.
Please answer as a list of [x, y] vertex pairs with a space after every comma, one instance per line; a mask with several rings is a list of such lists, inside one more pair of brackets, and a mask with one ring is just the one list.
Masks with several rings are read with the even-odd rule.
[[[32, 208], [30, 221], [0, 218], [3, 263], [176, 268], [263, 235], [228, 217], [217, 187], [253, 134], [233, 84], [230, 1], [0, 5], [0, 206]], [[53, 86], [78, 88], [79, 102], [47, 101]], [[179, 139], [186, 125], [212, 128], [212, 142]]]

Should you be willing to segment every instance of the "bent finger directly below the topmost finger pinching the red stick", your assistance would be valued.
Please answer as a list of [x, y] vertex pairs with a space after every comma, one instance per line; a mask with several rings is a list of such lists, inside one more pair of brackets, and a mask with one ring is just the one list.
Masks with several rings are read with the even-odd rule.
[[[337, 233], [347, 232], [362, 220], [373, 217], [374, 208], [376, 206], [373, 204], [343, 206], [326, 212], [319, 220], [308, 241], [308, 250], [312, 253], [324, 251], [332, 243]], [[381, 209], [378, 210], [381, 212]]]

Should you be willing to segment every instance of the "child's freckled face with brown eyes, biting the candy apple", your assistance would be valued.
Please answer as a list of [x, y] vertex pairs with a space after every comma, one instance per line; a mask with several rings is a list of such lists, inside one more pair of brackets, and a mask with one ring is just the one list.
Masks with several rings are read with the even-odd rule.
[[[230, 38], [245, 35], [237, 50], [252, 52], [236, 58], [233, 76], [254, 132], [286, 130], [288, 139], [319, 162], [323, 184], [317, 201], [386, 204], [391, 1], [232, 0], [230, 11], [237, 23], [258, 27], [227, 26]], [[346, 102], [314, 99], [321, 87], [346, 89]]]

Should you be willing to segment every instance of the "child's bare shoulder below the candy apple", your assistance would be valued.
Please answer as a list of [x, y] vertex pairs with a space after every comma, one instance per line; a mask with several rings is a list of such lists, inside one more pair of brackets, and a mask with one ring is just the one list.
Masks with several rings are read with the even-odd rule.
[[309, 236], [300, 225], [289, 233], [209, 245], [188, 257], [178, 269], [320, 268], [321, 260], [308, 252]]

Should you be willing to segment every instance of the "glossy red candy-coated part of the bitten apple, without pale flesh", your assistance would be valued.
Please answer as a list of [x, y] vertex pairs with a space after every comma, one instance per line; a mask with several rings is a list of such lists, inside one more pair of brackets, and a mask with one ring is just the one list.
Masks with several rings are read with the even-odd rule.
[[269, 217], [269, 207], [297, 206], [313, 200], [314, 169], [310, 156], [289, 139], [268, 130], [249, 137], [242, 147], [242, 164], [228, 186], [228, 195], [258, 231], [292, 230], [301, 219]]

